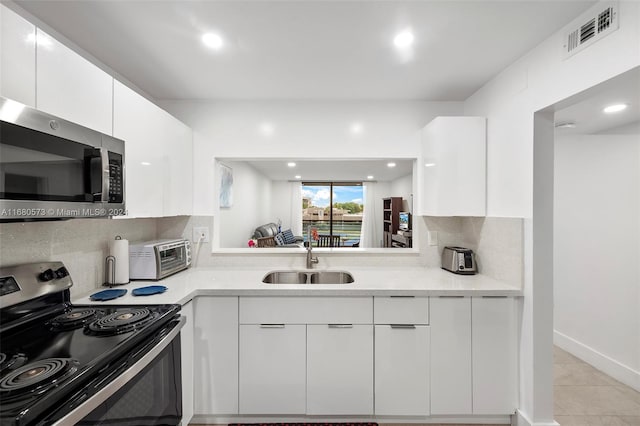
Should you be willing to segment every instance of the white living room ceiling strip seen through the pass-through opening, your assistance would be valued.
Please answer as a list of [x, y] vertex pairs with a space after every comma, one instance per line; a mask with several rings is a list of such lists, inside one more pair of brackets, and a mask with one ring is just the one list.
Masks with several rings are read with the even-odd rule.
[[[287, 163], [294, 161], [295, 167]], [[394, 162], [395, 167], [387, 167]], [[413, 160], [254, 160], [247, 163], [271, 180], [295, 180], [300, 175], [302, 181], [366, 181], [373, 176], [375, 181], [392, 181], [413, 172]]]

